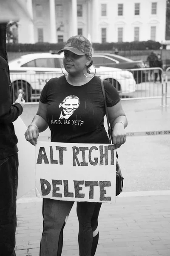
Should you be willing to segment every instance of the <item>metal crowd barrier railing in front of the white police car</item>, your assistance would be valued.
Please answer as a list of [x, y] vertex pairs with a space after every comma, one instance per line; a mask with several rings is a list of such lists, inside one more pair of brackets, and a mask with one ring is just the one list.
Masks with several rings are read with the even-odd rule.
[[[167, 92], [170, 91], [168, 70], [170, 68], [167, 68], [164, 72], [159, 67], [129, 70], [113, 69], [113, 71], [102, 72], [97, 70], [96, 76], [110, 81], [116, 87], [123, 100], [160, 98], [161, 106], [167, 106], [167, 97], [169, 97]], [[13, 100], [15, 101], [17, 98], [19, 90], [23, 90], [26, 102], [38, 102], [45, 83], [51, 78], [61, 75], [61, 72], [11, 72], [10, 77], [14, 90]]]

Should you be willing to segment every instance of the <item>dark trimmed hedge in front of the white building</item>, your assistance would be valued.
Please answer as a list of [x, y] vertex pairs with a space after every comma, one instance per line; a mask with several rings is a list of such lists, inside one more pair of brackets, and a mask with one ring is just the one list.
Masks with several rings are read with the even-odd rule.
[[[8, 52], [49, 52], [50, 50], [62, 49], [65, 43], [36, 43], [36, 44], [7, 44]], [[130, 50], [156, 50], [160, 49], [161, 44], [155, 41], [141, 41], [141, 42], [122, 42], [122, 43], [94, 43], [92, 44], [95, 51], [130, 51]]]

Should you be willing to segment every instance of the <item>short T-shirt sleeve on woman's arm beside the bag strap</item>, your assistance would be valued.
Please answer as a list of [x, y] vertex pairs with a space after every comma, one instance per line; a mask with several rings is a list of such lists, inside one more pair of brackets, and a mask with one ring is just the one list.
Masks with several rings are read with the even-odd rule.
[[116, 88], [109, 81], [104, 82], [107, 107], [113, 107], [120, 101]]

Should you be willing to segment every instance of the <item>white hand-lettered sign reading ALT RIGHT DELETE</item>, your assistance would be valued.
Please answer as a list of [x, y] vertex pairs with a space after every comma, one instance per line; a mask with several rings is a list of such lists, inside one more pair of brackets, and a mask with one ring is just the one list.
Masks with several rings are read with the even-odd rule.
[[37, 196], [115, 203], [113, 145], [38, 142], [35, 158]]

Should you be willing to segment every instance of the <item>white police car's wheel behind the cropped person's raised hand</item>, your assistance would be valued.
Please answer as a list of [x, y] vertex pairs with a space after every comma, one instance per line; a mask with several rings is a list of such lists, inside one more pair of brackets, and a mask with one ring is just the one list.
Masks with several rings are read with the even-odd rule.
[[14, 101], [18, 98], [19, 90], [23, 90], [23, 98], [26, 102], [31, 102], [31, 85], [26, 81], [20, 80], [15, 81], [12, 84], [13, 92], [14, 92]]

